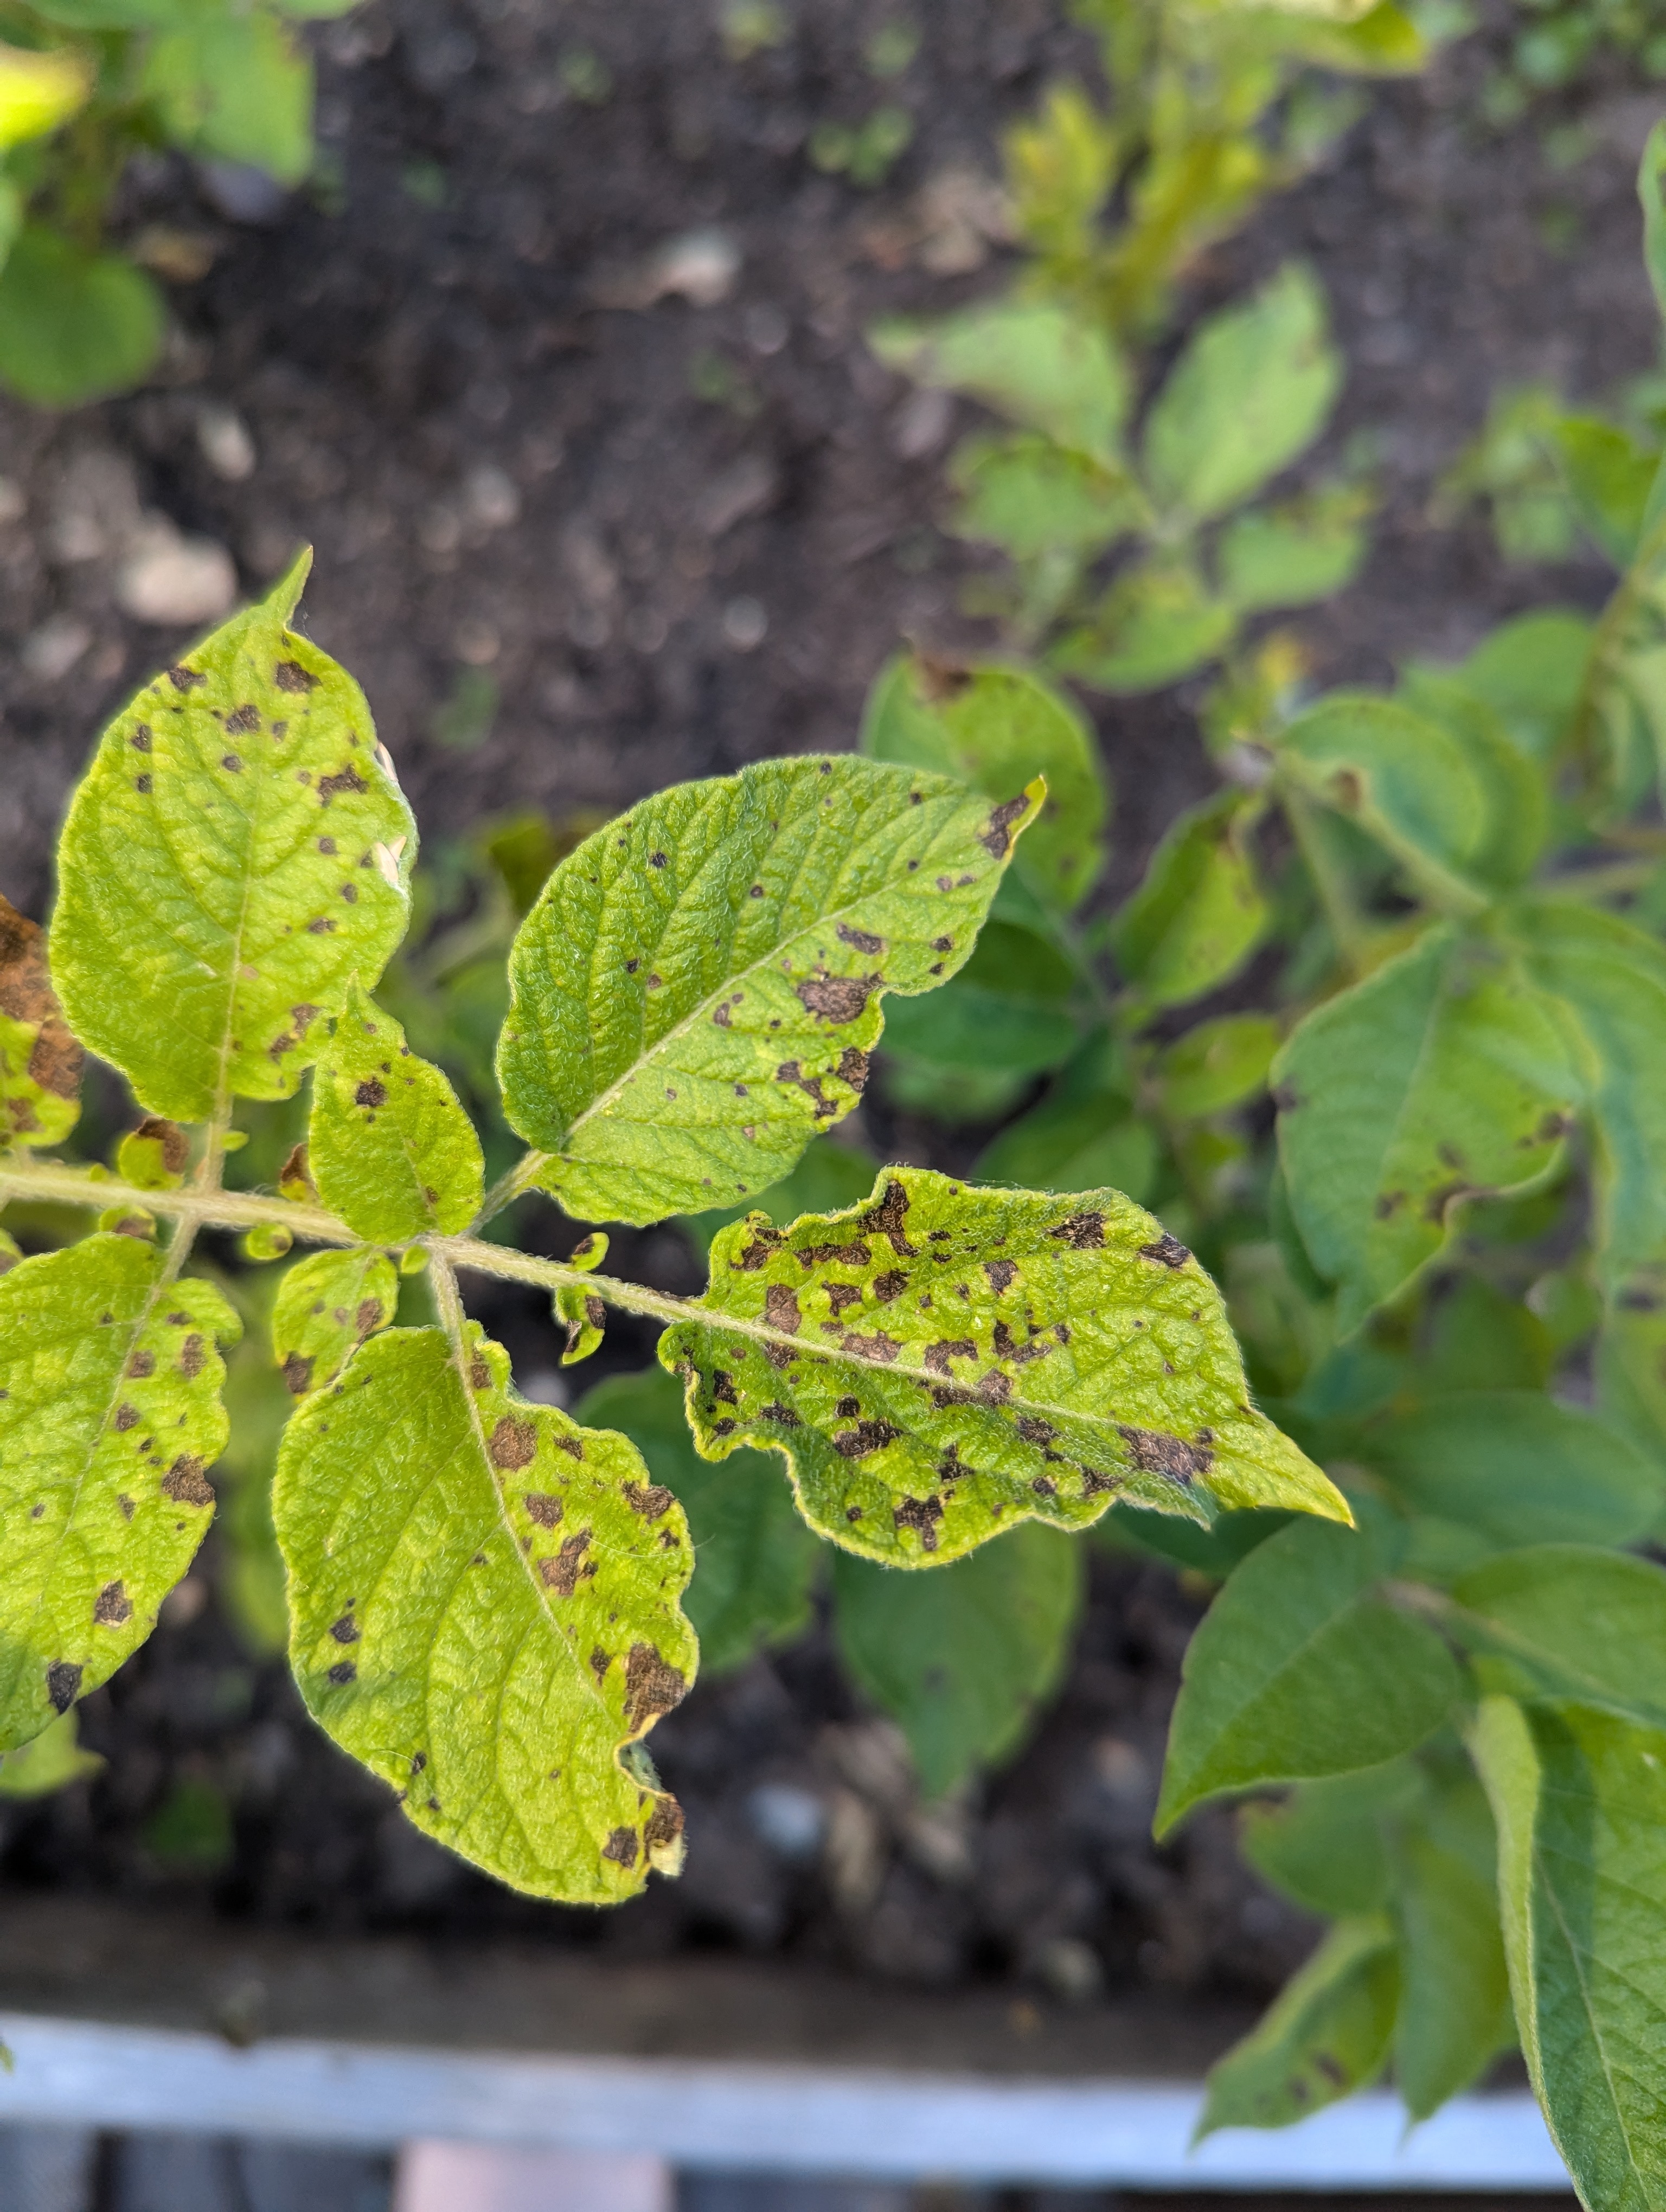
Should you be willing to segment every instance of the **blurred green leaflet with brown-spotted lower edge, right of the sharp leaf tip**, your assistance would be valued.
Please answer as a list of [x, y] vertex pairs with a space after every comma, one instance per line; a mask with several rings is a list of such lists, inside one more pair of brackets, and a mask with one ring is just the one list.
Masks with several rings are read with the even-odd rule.
[[1447, 1241], [1454, 1206], [1553, 1164], [1582, 1084], [1520, 969], [1427, 931], [1272, 1064], [1290, 1210], [1350, 1334]]

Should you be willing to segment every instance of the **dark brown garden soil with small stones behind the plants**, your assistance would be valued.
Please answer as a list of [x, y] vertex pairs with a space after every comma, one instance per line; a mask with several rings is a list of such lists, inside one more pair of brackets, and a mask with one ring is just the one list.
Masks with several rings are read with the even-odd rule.
[[[0, 407], [9, 896], [42, 909], [93, 732], [186, 635], [122, 613], [124, 564], [155, 544], [146, 515], [228, 549], [246, 591], [316, 546], [308, 626], [365, 684], [431, 838], [511, 805], [611, 810], [845, 748], [898, 635], [976, 644], [956, 611], [971, 557], [934, 529], [971, 411], [912, 394], [861, 334], [881, 310], [996, 281], [993, 137], [1071, 60], [1055, 13], [925, 0], [920, 58], [881, 91], [861, 62], [878, 0], [799, 7], [790, 42], [746, 62], [726, 60], [704, 0], [372, 0], [319, 40], [327, 208], [239, 223], [181, 173], [137, 179], [131, 230], [153, 226], [175, 265], [212, 254], [173, 292], [164, 378], [60, 420]], [[1323, 453], [1374, 431], [1385, 509], [1363, 580], [1301, 622], [1325, 681], [1378, 681], [1520, 606], [1606, 588], [1595, 564], [1509, 571], [1480, 526], [1429, 522], [1500, 383], [1600, 394], [1655, 345], [1631, 186], [1655, 97], [1611, 75], [1482, 137], [1467, 117], [1487, 42], [1374, 95], [1339, 157], [1195, 276], [1204, 310], [1297, 252], [1334, 305], [1350, 383]], [[861, 192], [819, 175], [812, 126], [881, 97], [916, 119], [892, 179]], [[1558, 170], [1540, 135], [1569, 119], [1589, 153]], [[1100, 703], [1097, 721], [1120, 891], [1208, 768], [1184, 697]], [[648, 1272], [686, 1265], [664, 1232], [631, 1250]], [[491, 1318], [549, 1365], [544, 1323]], [[626, 1332], [613, 1356], [631, 1352], [646, 1340]], [[686, 1878], [584, 1916], [425, 1843], [212, 1601], [190, 1619], [175, 1601], [84, 1705], [104, 1778], [0, 1809], [0, 1874], [139, 1900], [197, 1889], [327, 1931], [1013, 1975], [1042, 2002], [1131, 1982], [1261, 1993], [1310, 1931], [1239, 1869], [1230, 1818], [1148, 1843], [1199, 1608], [1162, 1568], [1095, 1557], [1038, 1739], [947, 1809], [914, 1803], [825, 1635], [701, 1683], [653, 1743], [688, 1807]], [[168, 1860], [155, 1814], [181, 1783], [235, 1807], [228, 1863], [181, 1865], [188, 1820]]]

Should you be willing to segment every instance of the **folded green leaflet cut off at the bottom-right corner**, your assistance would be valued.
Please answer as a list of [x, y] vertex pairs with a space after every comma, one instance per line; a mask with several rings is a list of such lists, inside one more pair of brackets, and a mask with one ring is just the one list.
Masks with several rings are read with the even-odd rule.
[[1666, 2203], [1666, 1734], [1582, 1705], [1482, 1699], [1471, 1750], [1498, 1820], [1522, 2053], [1593, 2212]]

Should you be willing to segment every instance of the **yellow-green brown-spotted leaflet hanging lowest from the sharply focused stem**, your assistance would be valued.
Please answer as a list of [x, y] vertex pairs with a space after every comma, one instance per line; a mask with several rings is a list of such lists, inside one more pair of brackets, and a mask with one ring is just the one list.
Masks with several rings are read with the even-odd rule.
[[290, 1420], [272, 1495], [310, 1712], [407, 1816], [540, 1898], [675, 1871], [642, 1754], [686, 1692], [688, 1528], [622, 1436], [509, 1387], [476, 1323], [389, 1329]]

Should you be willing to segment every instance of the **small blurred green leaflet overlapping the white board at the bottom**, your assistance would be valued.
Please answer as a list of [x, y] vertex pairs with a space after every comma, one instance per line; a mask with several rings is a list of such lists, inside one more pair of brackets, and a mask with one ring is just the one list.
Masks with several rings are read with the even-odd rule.
[[1197, 2135], [1288, 2128], [1374, 2081], [1387, 2059], [1398, 1995], [1387, 1916], [1339, 1920], [1266, 2020], [1210, 2066]]

